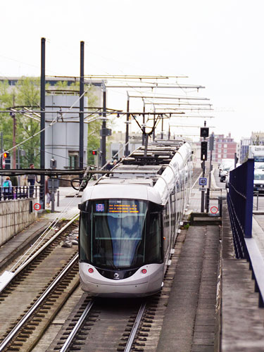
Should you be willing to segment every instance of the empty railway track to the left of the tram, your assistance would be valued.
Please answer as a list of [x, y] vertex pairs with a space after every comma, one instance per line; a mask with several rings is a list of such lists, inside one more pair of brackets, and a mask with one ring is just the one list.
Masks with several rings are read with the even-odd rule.
[[1, 292], [0, 351], [30, 351], [77, 287], [77, 246], [61, 246], [77, 228], [71, 221], [43, 241]]

